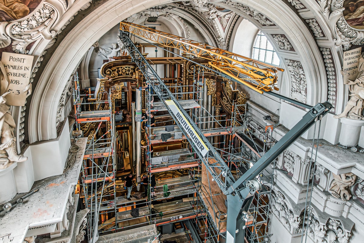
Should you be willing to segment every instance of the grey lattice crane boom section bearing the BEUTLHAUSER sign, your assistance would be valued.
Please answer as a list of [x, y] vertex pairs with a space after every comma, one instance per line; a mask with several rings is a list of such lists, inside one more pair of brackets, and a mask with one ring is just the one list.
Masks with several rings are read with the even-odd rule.
[[[203, 136], [203, 133], [195, 125], [195, 122], [192, 121], [190, 116], [186, 113], [186, 111], [183, 109], [183, 107], [178, 103], [178, 100], [171, 94], [170, 90], [164, 84], [164, 82], [161, 80], [161, 78], [158, 76], [158, 74], [155, 72], [155, 70], [150, 66], [150, 64], [147, 62], [147, 60], [143, 57], [141, 52], [138, 50], [138, 48], [135, 46], [135, 44], [129, 38], [128, 33], [120, 31], [120, 36], [122, 37], [123, 43], [128, 48], [129, 54], [130, 54], [130, 56], [132, 56], [133, 61], [140, 68], [144, 77], [149, 80], [155, 93], [158, 95], [158, 97], [161, 99], [161, 101], [165, 104], [165, 106], [166, 106], [167, 110], [169, 111], [169, 113], [171, 114], [172, 118], [175, 120], [176, 124], [182, 130], [183, 134], [186, 136], [186, 138], [190, 142], [191, 146], [193, 146], [193, 148], [194, 148], [195, 152], [197, 152], [199, 158], [205, 163], [206, 168], [208, 168], [210, 174], [214, 177], [214, 179], [217, 182], [221, 191], [225, 193], [227, 187], [230, 187], [230, 185], [232, 185], [233, 182], [235, 181], [233, 175], [230, 173], [229, 167], [222, 160], [220, 155], [216, 152], [215, 148], [210, 144], [210, 142], [205, 138], [205, 136]], [[151, 78], [151, 77], [153, 77], [153, 78]], [[178, 118], [172, 112], [169, 105], [166, 103], [166, 101], [169, 101], [169, 100], [174, 102], [174, 105], [177, 106], [179, 112], [183, 114], [184, 118], [190, 123], [194, 132], [198, 134], [200, 140], [202, 140], [203, 144], [205, 144], [207, 146], [208, 152], [206, 154], [202, 154], [200, 152], [199, 148], [195, 145], [195, 141], [191, 140], [190, 134], [187, 134], [187, 132], [183, 129], [181, 123], [178, 121]], [[218, 170], [210, 168], [209, 158], [213, 158], [216, 161], [214, 164], [218, 168]], [[223, 181], [223, 179], [221, 177], [217, 176], [222, 173], [225, 175], [225, 177], [222, 177], [222, 178], [225, 178], [226, 181]]]

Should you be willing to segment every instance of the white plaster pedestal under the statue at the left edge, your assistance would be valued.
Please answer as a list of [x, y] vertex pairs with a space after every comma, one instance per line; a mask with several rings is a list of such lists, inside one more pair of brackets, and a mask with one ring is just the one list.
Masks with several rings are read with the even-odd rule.
[[16, 194], [15, 179], [13, 169], [16, 163], [13, 163], [8, 168], [0, 170], [0, 203], [6, 203]]

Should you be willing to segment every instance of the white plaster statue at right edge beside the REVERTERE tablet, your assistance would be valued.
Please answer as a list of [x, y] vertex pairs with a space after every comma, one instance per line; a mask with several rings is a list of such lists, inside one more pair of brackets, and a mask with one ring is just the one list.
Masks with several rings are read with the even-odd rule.
[[[362, 112], [364, 107], [364, 52], [359, 58], [358, 75], [355, 80], [344, 80], [345, 85], [349, 85], [350, 99], [341, 114], [334, 115], [334, 118], [347, 117], [349, 119], [364, 119]], [[341, 71], [341, 74], [346, 72]]]

